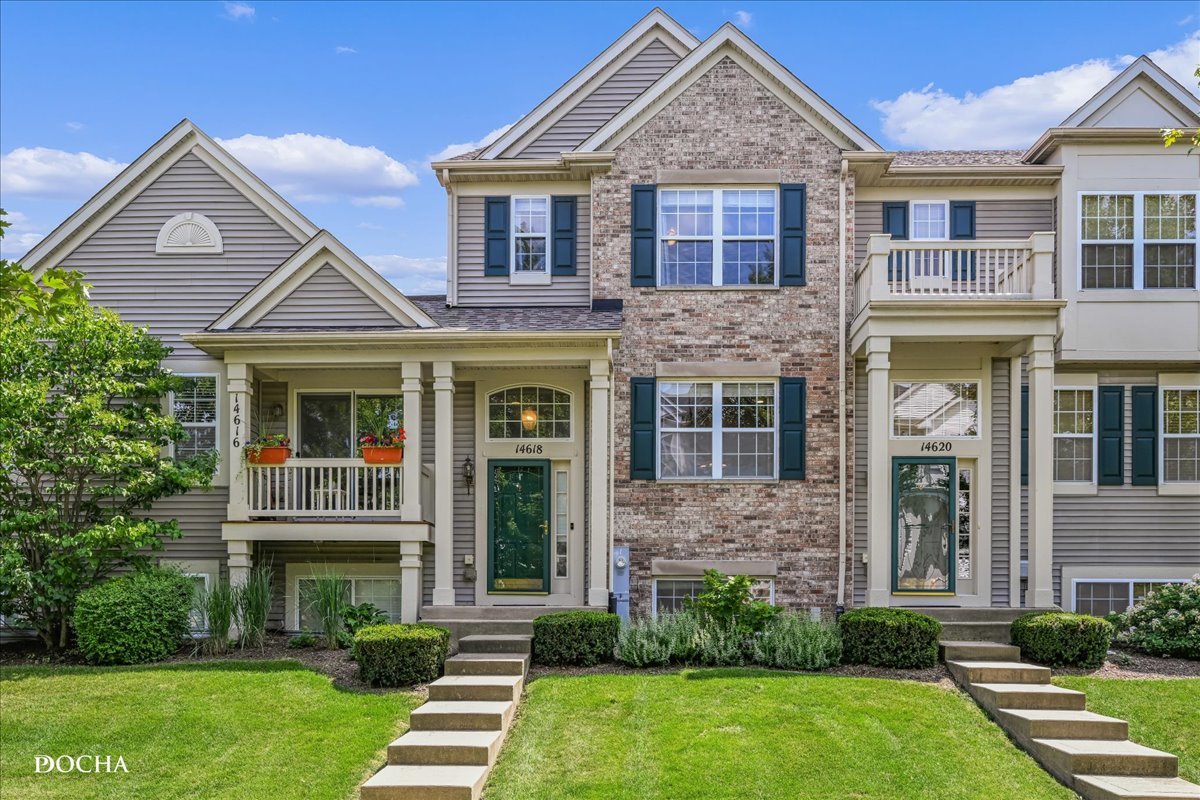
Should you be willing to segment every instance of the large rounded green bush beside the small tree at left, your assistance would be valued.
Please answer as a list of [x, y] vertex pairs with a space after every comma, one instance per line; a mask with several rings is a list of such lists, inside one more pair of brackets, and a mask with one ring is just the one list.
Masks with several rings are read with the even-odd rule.
[[174, 654], [191, 631], [192, 579], [151, 569], [79, 595], [74, 630], [89, 663], [134, 664]]

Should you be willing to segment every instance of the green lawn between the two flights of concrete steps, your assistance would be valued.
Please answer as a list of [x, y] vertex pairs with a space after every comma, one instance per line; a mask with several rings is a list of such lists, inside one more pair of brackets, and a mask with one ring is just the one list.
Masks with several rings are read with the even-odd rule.
[[546, 676], [486, 800], [1067, 800], [964, 694], [755, 669]]

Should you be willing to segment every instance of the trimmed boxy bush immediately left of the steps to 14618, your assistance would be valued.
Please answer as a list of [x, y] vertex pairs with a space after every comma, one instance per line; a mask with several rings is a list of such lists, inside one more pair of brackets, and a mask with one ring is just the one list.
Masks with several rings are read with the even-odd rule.
[[354, 634], [354, 660], [372, 686], [427, 684], [442, 674], [450, 631], [433, 625], [372, 625]]

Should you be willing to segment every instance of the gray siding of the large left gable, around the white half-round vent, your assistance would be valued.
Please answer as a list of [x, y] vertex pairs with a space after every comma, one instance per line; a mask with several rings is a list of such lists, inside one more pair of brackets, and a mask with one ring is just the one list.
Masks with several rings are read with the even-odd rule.
[[[158, 255], [158, 230], [178, 213], [209, 217], [221, 254]], [[199, 331], [296, 251], [300, 242], [194, 155], [185, 155], [89, 236], [61, 265], [92, 284], [91, 299], [126, 321], [149, 325], [178, 356]]]

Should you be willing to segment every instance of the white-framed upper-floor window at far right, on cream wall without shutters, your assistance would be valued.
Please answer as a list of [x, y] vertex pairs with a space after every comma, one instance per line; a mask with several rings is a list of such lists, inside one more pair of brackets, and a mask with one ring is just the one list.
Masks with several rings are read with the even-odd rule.
[[1084, 289], [1196, 287], [1196, 196], [1080, 196]]

